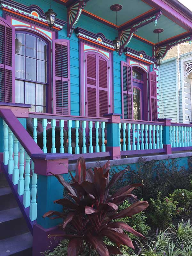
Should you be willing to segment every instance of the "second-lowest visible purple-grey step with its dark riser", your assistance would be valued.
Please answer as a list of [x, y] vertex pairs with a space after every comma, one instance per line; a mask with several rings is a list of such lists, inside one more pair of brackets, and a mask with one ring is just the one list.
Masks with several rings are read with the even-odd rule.
[[0, 240], [29, 231], [19, 207], [0, 211], [0, 230]]

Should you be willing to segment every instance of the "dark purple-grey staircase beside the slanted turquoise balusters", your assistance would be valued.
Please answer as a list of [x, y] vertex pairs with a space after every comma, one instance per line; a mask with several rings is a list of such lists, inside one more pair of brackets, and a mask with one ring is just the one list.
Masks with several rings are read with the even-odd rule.
[[32, 240], [4, 173], [0, 173], [0, 255], [31, 256]]

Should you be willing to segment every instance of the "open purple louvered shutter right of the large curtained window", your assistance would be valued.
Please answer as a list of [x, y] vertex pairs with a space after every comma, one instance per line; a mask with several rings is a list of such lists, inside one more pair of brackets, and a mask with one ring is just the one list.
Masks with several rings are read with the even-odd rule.
[[70, 115], [69, 40], [53, 40], [53, 113]]

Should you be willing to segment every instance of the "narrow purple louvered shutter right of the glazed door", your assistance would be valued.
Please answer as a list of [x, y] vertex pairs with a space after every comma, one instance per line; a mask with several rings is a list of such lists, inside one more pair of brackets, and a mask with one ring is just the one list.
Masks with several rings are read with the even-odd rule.
[[149, 87], [150, 87], [150, 121], [157, 120], [157, 82], [156, 72], [149, 72]]

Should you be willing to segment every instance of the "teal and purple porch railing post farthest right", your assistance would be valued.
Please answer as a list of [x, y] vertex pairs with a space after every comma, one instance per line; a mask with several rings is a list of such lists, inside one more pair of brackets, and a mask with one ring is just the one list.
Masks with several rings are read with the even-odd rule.
[[170, 141], [171, 120], [172, 120], [171, 118], [157, 119], [157, 121], [164, 123], [163, 131], [162, 131], [163, 148], [165, 149], [165, 154], [167, 154], [167, 155], [172, 154], [172, 147], [171, 147], [171, 141]]

